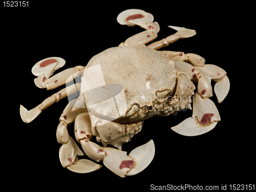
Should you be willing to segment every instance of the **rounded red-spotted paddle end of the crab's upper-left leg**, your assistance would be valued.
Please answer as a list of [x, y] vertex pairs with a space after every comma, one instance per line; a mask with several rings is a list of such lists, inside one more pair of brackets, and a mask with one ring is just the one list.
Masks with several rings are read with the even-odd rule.
[[32, 74], [38, 78], [34, 79], [35, 85], [39, 88], [46, 88], [45, 81], [55, 70], [65, 65], [66, 61], [60, 57], [49, 57], [38, 61], [32, 67]]

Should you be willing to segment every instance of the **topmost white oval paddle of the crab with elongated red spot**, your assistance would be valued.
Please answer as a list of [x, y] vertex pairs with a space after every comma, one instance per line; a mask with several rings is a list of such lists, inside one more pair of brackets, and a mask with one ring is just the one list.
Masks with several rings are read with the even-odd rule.
[[144, 29], [147, 29], [147, 22], [152, 22], [154, 17], [150, 13], [146, 13], [140, 9], [129, 9], [121, 12], [117, 16], [117, 21], [121, 25], [138, 25]]

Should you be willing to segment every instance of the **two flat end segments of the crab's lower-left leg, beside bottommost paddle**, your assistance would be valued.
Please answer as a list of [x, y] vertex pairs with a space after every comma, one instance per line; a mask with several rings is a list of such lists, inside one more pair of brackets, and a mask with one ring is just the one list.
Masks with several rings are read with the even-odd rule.
[[87, 159], [79, 160], [77, 155], [83, 155], [83, 153], [69, 136], [67, 144], [62, 145], [59, 149], [59, 160], [63, 167], [76, 173], [89, 173], [101, 167], [101, 165]]

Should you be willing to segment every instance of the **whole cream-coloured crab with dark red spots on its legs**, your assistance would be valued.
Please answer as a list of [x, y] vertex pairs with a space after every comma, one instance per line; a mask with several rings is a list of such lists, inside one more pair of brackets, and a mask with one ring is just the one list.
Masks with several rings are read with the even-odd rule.
[[[225, 70], [205, 64], [204, 58], [196, 54], [157, 51], [169, 43], [194, 36], [195, 30], [168, 26], [177, 32], [146, 46], [160, 30], [153, 20], [152, 14], [139, 9], [121, 12], [117, 17], [121, 25], [138, 25], [146, 31], [99, 53], [86, 67], [68, 68], [50, 77], [65, 64], [65, 60], [51, 57], [33, 66], [37, 87], [53, 89], [69, 85], [34, 109], [28, 111], [20, 105], [22, 120], [30, 123], [54, 102], [69, 98], [56, 131], [57, 141], [62, 144], [59, 158], [63, 167], [76, 173], [89, 173], [99, 169], [101, 165], [96, 162], [102, 160], [120, 177], [140, 173], [154, 158], [154, 141], [137, 147], [129, 155], [121, 151], [123, 143], [131, 141], [148, 118], [176, 115], [178, 111], [192, 109], [191, 97], [194, 97], [192, 116], [172, 127], [173, 131], [185, 136], [201, 135], [220, 121], [219, 112], [209, 99], [212, 96], [210, 82], [217, 82], [214, 90], [221, 103], [229, 91]], [[81, 78], [81, 83], [74, 83], [76, 77]], [[197, 89], [194, 83], [197, 83]], [[73, 99], [71, 95], [77, 92], [78, 98]], [[96, 162], [78, 159], [83, 152], [67, 131], [72, 123], [77, 142]], [[92, 141], [94, 136], [102, 145]]]

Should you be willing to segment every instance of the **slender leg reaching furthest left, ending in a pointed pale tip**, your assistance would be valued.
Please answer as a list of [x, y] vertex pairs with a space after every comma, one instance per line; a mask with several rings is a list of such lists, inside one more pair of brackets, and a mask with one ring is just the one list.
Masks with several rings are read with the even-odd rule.
[[58, 102], [59, 100], [66, 98], [68, 95], [71, 95], [79, 91], [80, 86], [81, 86], [80, 83], [76, 83], [66, 88], [63, 88], [57, 93], [53, 94], [51, 97], [47, 98], [45, 101], [43, 101], [41, 104], [36, 106], [34, 109], [31, 109], [29, 111], [25, 107], [20, 105], [19, 112], [20, 112], [20, 116], [22, 117], [22, 120], [25, 123], [32, 122], [35, 119], [35, 117], [37, 117], [41, 113], [42, 110], [48, 108], [54, 102]]

